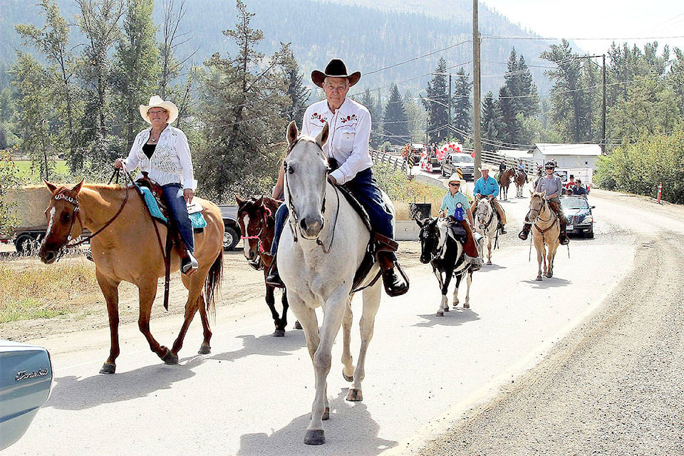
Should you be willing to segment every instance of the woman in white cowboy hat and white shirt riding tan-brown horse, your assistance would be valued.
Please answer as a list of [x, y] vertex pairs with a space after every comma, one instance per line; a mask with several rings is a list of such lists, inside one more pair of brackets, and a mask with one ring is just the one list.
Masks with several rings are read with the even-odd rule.
[[162, 187], [162, 197], [171, 212], [171, 222], [185, 244], [186, 252], [181, 252], [181, 271], [183, 274], [192, 274], [198, 264], [193, 255], [195, 238], [186, 203], [192, 202], [197, 181], [192, 170], [187, 137], [170, 125], [178, 118], [178, 108], [174, 103], [162, 100], [159, 95], [153, 95], [147, 105], [140, 105], [140, 115], [151, 127], [135, 136], [128, 157], [125, 160], [117, 158], [114, 166], [126, 171], [138, 167]]

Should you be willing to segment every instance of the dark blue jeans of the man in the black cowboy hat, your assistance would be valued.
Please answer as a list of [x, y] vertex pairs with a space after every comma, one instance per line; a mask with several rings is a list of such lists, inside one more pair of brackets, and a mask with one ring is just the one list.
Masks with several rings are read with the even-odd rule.
[[[356, 177], [345, 185], [351, 190], [352, 195], [358, 199], [363, 208], [366, 209], [366, 212], [368, 212], [373, 232], [394, 239], [394, 219], [383, 201], [383, 194], [380, 191], [380, 187], [378, 187], [378, 181], [375, 180], [371, 168], [358, 172]], [[281, 204], [276, 212], [276, 227], [273, 234], [273, 243], [271, 244], [271, 255], [275, 255], [278, 252], [280, 236], [288, 215], [289, 211], [286, 204]]]

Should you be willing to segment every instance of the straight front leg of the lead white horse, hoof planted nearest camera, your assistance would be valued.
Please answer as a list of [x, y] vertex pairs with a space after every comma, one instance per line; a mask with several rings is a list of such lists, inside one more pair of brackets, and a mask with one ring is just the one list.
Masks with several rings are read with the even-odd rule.
[[[316, 394], [314, 395], [314, 403], [311, 405], [311, 422], [309, 427], [306, 427], [306, 435], [304, 436], [304, 443], [309, 445], [318, 445], [326, 441], [325, 432], [323, 432], [323, 416], [326, 411], [329, 414], [330, 410], [327, 378], [328, 373], [330, 373], [331, 350], [344, 318], [347, 300], [348, 289], [340, 286], [336, 291], [333, 291], [325, 304], [320, 339], [314, 353]], [[304, 325], [303, 321], [301, 323]], [[304, 328], [306, 331], [306, 326]]]

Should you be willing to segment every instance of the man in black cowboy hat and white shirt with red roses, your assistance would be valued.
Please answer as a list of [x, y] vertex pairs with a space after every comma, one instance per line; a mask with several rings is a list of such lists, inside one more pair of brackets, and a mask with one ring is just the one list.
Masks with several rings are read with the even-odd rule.
[[[383, 272], [385, 291], [390, 296], [399, 296], [408, 291], [408, 279], [401, 271], [394, 253], [398, 244], [394, 240], [392, 214], [383, 201], [382, 192], [371, 170], [373, 160], [368, 152], [371, 113], [365, 106], [346, 98], [349, 88], [358, 83], [360, 78], [359, 71], [349, 74], [344, 62], [338, 58], [333, 58], [324, 72], [313, 71], [311, 80], [323, 89], [326, 99], [306, 109], [301, 133], [316, 136], [323, 125], [328, 123], [330, 135], [323, 147], [323, 152], [326, 153], [331, 165], [328, 180], [332, 184], [344, 184], [348, 187], [368, 212], [377, 252], [376, 259]], [[281, 206], [278, 212], [284, 210]], [[279, 219], [284, 217], [276, 215], [276, 239], [271, 244], [272, 254], [278, 250], [278, 234], [281, 232], [281, 227], [277, 225]], [[281, 283], [277, 269], [271, 269], [266, 282], [275, 286]]]

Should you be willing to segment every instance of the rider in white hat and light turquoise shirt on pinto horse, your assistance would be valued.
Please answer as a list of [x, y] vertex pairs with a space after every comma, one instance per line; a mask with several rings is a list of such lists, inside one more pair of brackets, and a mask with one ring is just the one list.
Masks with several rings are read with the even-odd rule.
[[480, 252], [477, 252], [475, 236], [472, 234], [473, 220], [470, 202], [468, 202], [468, 197], [461, 192], [462, 187], [465, 186], [465, 180], [462, 175], [455, 172], [443, 184], [449, 191], [442, 198], [440, 214], [442, 217], [447, 217], [450, 224], [460, 224], [465, 229], [467, 240], [463, 250], [473, 271], [477, 271], [482, 267], [482, 259], [480, 259]]

